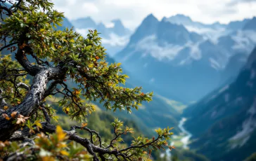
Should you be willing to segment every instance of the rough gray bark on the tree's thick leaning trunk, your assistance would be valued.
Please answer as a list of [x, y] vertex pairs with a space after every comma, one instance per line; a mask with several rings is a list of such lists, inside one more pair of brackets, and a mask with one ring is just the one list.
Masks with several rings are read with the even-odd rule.
[[[33, 71], [33, 70], [32, 70]], [[54, 68], [41, 68], [41, 70], [34, 76], [31, 90], [21, 104], [6, 111], [8, 116], [11, 116], [13, 111], [23, 116], [32, 116], [37, 111], [41, 99], [46, 91], [46, 85], [49, 80], [63, 77], [63, 69], [60, 66]], [[11, 137], [13, 132], [19, 129], [18, 125], [13, 125], [10, 120], [6, 120], [2, 115], [0, 116], [0, 140], [6, 140]]]

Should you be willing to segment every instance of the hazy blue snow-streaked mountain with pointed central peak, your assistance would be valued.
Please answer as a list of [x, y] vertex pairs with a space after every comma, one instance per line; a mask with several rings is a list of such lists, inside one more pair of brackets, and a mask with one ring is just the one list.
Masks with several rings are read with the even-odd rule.
[[156, 92], [188, 103], [202, 98], [238, 72], [223, 74], [230, 71], [226, 68], [231, 57], [237, 59], [235, 55], [243, 53], [243, 61], [247, 59], [256, 44], [253, 25], [256, 27], [255, 18], [229, 25], [204, 25], [184, 15], [158, 21], [151, 14], [115, 59], [141, 81], [151, 83]]

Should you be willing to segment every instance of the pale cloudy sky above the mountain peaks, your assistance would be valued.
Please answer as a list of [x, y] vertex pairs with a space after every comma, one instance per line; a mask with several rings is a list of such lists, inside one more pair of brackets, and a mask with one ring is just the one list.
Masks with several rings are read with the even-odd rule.
[[96, 22], [109, 24], [119, 18], [132, 29], [150, 13], [159, 20], [180, 13], [205, 23], [227, 23], [256, 16], [256, 0], [53, 0], [53, 3], [70, 20], [90, 16]]

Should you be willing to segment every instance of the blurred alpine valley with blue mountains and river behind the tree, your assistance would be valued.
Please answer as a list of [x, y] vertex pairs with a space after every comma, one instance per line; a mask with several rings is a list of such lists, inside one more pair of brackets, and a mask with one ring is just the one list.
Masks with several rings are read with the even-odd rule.
[[122, 20], [111, 24], [85, 16], [64, 18], [56, 29], [73, 27], [82, 36], [97, 29], [106, 61], [121, 62], [130, 77], [126, 87], [143, 87], [154, 97], [132, 113], [104, 111], [93, 102], [97, 112], [89, 126], [124, 118], [149, 137], [155, 128], [174, 127], [169, 144], [176, 149], [154, 153], [153, 160], [256, 160], [256, 18], [204, 24], [181, 14], [162, 20], [150, 14], [135, 30]]

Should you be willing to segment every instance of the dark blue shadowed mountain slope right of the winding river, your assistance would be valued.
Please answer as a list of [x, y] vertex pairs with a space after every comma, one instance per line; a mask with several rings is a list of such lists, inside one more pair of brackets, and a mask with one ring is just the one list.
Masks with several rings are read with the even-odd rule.
[[184, 110], [191, 148], [212, 161], [240, 161], [256, 151], [256, 48], [232, 83]]

